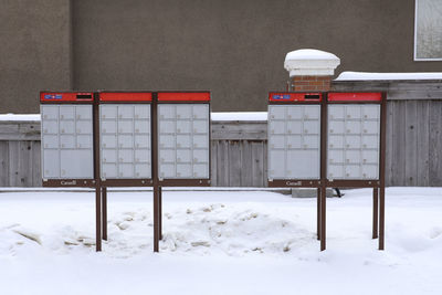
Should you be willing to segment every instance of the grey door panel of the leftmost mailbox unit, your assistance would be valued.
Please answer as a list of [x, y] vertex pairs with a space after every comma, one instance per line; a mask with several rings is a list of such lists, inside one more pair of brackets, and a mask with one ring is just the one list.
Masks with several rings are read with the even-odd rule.
[[92, 105], [41, 105], [43, 179], [92, 179]]

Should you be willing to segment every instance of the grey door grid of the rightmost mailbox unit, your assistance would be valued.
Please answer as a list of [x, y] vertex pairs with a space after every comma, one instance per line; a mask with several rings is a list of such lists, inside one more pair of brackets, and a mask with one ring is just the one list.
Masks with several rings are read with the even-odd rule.
[[328, 105], [327, 178], [378, 179], [380, 105]]

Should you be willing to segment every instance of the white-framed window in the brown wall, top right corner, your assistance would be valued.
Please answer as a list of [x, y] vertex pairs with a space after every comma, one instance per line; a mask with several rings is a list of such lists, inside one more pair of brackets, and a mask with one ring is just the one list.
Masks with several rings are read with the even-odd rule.
[[415, 0], [414, 61], [442, 61], [441, 0]]

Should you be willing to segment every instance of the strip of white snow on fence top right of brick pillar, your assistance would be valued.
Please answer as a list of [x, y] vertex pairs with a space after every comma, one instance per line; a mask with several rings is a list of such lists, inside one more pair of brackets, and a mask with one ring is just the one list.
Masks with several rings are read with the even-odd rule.
[[442, 80], [442, 73], [343, 72], [335, 81]]

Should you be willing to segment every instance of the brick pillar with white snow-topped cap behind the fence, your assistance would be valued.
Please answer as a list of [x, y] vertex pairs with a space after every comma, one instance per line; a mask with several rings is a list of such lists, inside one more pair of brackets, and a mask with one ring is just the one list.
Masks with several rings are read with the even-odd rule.
[[295, 50], [285, 56], [284, 67], [290, 72], [288, 91], [322, 92], [330, 89], [339, 57], [319, 50]]

